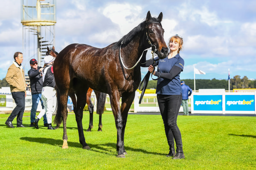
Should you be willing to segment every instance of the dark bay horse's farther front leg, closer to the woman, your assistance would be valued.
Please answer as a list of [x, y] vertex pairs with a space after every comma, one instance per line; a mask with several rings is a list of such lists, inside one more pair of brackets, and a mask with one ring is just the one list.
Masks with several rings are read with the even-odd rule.
[[[128, 111], [131, 108], [132, 102], [134, 101], [135, 92], [132, 94], [126, 94], [122, 96], [121, 114], [122, 114], [122, 145], [124, 145], [125, 138], [125, 127], [128, 117]], [[124, 150], [124, 154], [127, 152]]]

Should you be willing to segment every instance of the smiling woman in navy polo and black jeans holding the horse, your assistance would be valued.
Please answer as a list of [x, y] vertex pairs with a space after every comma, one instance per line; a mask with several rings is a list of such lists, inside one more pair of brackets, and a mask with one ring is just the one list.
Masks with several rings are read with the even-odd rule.
[[[156, 60], [149, 59], [142, 61], [142, 67], [148, 67], [148, 70], [159, 77], [157, 80], [157, 102], [163, 119], [166, 138], [169, 144], [169, 153], [167, 157], [172, 159], [185, 158], [181, 140], [180, 129], [177, 126], [177, 116], [180, 110], [182, 100], [182, 90], [180, 85], [180, 72], [183, 71], [184, 60], [180, 57], [180, 50], [183, 45], [183, 39], [175, 35], [169, 40], [170, 52], [168, 57]], [[158, 65], [157, 71], [154, 66]], [[176, 154], [175, 146], [176, 143]]]

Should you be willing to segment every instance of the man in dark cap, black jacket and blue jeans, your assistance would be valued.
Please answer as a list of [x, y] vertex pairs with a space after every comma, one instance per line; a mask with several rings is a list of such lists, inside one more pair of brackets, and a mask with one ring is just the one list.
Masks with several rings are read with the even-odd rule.
[[[44, 109], [42, 100], [42, 88], [43, 88], [43, 77], [41, 75], [42, 67], [38, 66], [36, 59], [30, 60], [31, 69], [28, 71], [30, 79], [30, 89], [32, 94], [32, 108], [30, 112], [30, 127], [33, 127], [33, 122], [35, 121], [35, 114], [38, 107], [39, 101], [41, 101], [42, 109]], [[44, 126], [47, 127], [46, 115], [44, 115]]]

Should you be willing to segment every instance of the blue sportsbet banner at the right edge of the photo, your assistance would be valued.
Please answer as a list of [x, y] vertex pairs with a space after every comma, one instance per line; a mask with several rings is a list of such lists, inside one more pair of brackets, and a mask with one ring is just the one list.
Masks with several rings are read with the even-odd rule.
[[255, 111], [254, 95], [226, 95], [226, 111]]

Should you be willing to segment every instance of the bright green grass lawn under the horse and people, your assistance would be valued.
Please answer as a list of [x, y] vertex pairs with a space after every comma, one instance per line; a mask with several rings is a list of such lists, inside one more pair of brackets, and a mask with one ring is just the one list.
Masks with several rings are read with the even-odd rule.
[[[29, 113], [25, 113], [29, 115]], [[167, 158], [169, 147], [160, 115], [128, 115], [125, 159], [116, 158], [116, 127], [113, 115], [102, 116], [103, 132], [86, 132], [89, 114], [84, 113], [84, 134], [91, 150], [83, 150], [74, 114], [67, 119], [68, 149], [62, 149], [62, 126], [47, 130], [9, 128], [0, 117], [0, 170], [255, 170], [256, 117], [178, 116], [185, 159]], [[30, 117], [23, 117], [29, 126]]]

